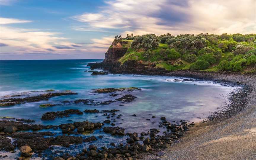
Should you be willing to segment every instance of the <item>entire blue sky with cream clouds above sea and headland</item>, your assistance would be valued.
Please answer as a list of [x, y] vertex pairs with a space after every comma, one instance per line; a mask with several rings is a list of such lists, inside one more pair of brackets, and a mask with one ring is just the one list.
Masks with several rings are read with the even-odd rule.
[[115, 35], [256, 33], [256, 0], [0, 0], [0, 60], [103, 59]]

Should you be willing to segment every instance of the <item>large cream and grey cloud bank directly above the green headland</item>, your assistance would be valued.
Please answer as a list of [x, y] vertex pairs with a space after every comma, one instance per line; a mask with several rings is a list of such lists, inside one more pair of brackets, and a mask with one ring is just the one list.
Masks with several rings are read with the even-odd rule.
[[121, 35], [256, 31], [255, 0], [111, 0], [105, 4], [99, 12], [72, 18], [84, 22], [85, 30], [115, 29]]

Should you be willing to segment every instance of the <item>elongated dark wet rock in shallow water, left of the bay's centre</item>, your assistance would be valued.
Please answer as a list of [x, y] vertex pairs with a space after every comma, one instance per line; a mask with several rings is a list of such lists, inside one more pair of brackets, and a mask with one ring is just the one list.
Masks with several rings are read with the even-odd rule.
[[54, 120], [56, 117], [62, 118], [62, 117], [69, 117], [70, 114], [78, 114], [81, 115], [83, 112], [80, 110], [75, 109], [69, 109], [64, 111], [57, 111], [57, 112], [46, 112], [42, 115], [42, 120]]

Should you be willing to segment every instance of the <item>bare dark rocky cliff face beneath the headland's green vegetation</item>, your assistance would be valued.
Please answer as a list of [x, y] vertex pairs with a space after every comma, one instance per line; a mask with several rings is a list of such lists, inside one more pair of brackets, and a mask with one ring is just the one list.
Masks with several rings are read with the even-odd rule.
[[113, 42], [105, 53], [105, 59], [101, 63], [89, 63], [93, 69], [103, 69], [113, 74], [147, 74], [159, 75], [167, 73], [164, 68], [155, 68], [154, 63], [144, 64], [142, 62], [132, 60], [121, 64], [118, 60], [124, 56], [128, 48], [125, 47], [127, 41]]

